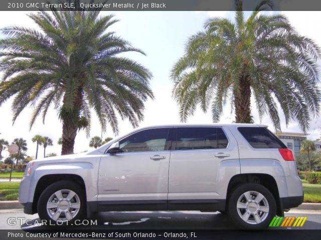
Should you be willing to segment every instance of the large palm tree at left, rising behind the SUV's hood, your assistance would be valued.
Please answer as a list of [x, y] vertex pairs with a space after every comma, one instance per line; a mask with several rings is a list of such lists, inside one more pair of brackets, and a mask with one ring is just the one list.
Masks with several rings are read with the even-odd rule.
[[[79, 0], [74, 0], [76, 4]], [[119, 53], [134, 51], [126, 40], [107, 31], [113, 15], [91, 11], [41, 11], [29, 16], [41, 31], [21, 26], [2, 29], [0, 105], [15, 95], [14, 116], [35, 106], [30, 127], [54, 104], [62, 121], [62, 154], [73, 153], [79, 129], [90, 129], [91, 109], [105, 131], [118, 133], [118, 113], [133, 127], [143, 119], [144, 102], [153, 98], [151, 73]]]

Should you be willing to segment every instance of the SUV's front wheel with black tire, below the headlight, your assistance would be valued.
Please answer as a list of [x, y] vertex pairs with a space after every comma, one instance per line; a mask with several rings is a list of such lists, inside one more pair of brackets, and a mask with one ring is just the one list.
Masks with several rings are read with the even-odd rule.
[[[59, 202], [58, 197], [56, 196], [56, 194], [54, 194], [57, 191], [59, 191], [62, 195], [62, 198], [60, 198], [61, 201], [59, 204], [57, 204], [57, 202]], [[71, 193], [72, 195], [73, 194], [72, 191], [76, 194], [73, 197], [70, 197], [70, 201], [68, 201], [67, 200], [68, 193]], [[50, 203], [57, 204], [56, 208], [53, 207], [48, 210], [51, 214], [47, 211], [47, 203], [49, 200], [50, 200]], [[61, 180], [61, 181], [52, 183], [41, 193], [39, 197], [37, 209], [38, 209], [38, 214], [40, 219], [47, 220], [47, 225], [50, 225], [53, 227], [54, 226], [60, 227], [60, 226], [67, 226], [67, 225], [71, 226], [75, 220], [83, 219], [84, 212], [85, 212], [85, 204], [86, 204], [85, 196], [84, 196], [84, 191], [82, 187], [73, 181]], [[75, 206], [76, 208], [73, 208], [72, 206]], [[62, 209], [63, 208], [66, 208], [66, 209], [61, 210], [59, 207], [61, 207]], [[66, 212], [66, 210], [70, 214], [65, 214], [65, 213], [68, 213]], [[59, 213], [59, 211], [61, 211], [61, 213]], [[57, 213], [56, 217], [57, 215], [59, 215], [57, 220], [53, 219], [53, 215], [55, 213]], [[70, 217], [72, 218], [70, 219]]]

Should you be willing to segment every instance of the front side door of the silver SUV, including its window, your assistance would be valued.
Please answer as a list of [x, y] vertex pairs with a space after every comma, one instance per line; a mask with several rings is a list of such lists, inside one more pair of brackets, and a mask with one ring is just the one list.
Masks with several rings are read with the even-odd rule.
[[134, 132], [119, 141], [119, 152], [102, 156], [99, 210], [167, 209], [169, 133], [169, 127]]

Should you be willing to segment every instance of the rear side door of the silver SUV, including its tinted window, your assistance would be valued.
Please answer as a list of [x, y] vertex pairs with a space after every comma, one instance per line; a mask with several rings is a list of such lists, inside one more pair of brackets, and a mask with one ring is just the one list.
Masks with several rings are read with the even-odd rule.
[[240, 173], [237, 142], [226, 131], [213, 126], [175, 128], [169, 209], [214, 209], [215, 203], [225, 206], [229, 177]]

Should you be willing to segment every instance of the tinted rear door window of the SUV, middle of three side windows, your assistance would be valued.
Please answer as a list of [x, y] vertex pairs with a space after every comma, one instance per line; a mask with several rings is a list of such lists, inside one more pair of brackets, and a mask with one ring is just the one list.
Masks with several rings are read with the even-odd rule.
[[176, 150], [226, 148], [228, 140], [220, 127], [178, 127]]

